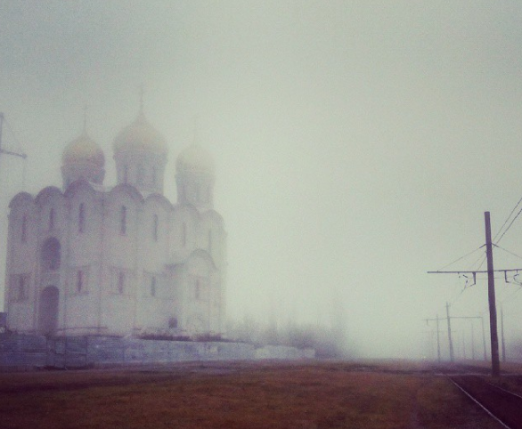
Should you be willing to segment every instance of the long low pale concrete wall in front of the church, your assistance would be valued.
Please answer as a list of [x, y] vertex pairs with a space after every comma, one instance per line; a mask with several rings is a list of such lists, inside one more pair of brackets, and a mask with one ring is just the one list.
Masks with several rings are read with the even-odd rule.
[[197, 360], [313, 359], [314, 350], [224, 342], [157, 341], [110, 336], [0, 334], [0, 371], [85, 368]]

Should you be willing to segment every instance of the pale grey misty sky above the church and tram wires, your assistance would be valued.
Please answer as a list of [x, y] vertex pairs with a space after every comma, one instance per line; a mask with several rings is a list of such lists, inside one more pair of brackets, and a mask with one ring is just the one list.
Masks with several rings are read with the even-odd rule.
[[[485, 281], [461, 293], [464, 279], [426, 271], [481, 246], [484, 211], [494, 234], [522, 197], [520, 2], [2, 0], [0, 28], [4, 144], [28, 153], [31, 193], [61, 186], [85, 104], [113, 184], [111, 143], [143, 82], [175, 200], [199, 117], [232, 319], [327, 324], [340, 302], [358, 355], [417, 357], [446, 301], [485, 311]], [[5, 219], [22, 174], [0, 162]], [[522, 216], [502, 247], [522, 255]], [[497, 250], [495, 264], [522, 260]], [[519, 288], [497, 280], [511, 342]]]

